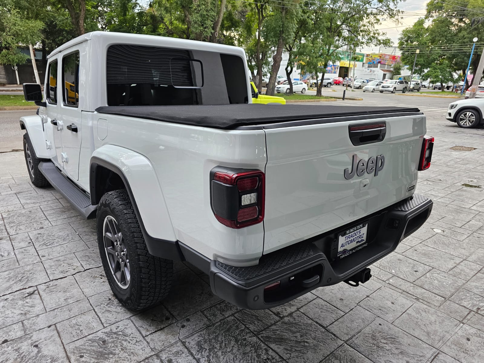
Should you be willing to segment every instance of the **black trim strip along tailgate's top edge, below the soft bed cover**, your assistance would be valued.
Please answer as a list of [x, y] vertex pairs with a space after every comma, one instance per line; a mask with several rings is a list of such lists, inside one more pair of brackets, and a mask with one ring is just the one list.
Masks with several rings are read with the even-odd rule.
[[[284, 127], [294, 127], [294, 126], [306, 126], [306, 125], [317, 125], [324, 123], [334, 123], [334, 122], [345, 122], [345, 121], [363, 121], [363, 120], [375, 120], [375, 119], [388, 119], [392, 117], [403, 117], [403, 116], [423, 116], [423, 112], [394, 112], [394, 113], [374, 113], [372, 115], [359, 115], [359, 116], [343, 116], [343, 117], [332, 117], [328, 119], [311, 119], [311, 120], [300, 120], [300, 121], [288, 121], [288, 122], [277, 122], [277, 123], [265, 123], [260, 125], [247, 125], [238, 126], [234, 130], [269, 130], [278, 129]], [[378, 122], [378, 121], [375, 121]]]

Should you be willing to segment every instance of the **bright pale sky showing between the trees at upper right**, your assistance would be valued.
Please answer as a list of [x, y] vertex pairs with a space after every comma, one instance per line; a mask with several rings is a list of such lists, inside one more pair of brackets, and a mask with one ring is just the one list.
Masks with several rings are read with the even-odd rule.
[[[425, 14], [425, 4], [428, 0], [407, 0], [405, 2], [401, 2], [398, 5], [398, 9], [404, 11], [402, 14], [402, 19], [400, 20], [400, 24], [395, 24], [393, 21], [382, 21], [381, 25], [376, 28], [378, 30], [385, 31], [387, 36], [392, 40], [393, 45], [398, 45], [398, 37], [400, 36], [400, 32], [404, 30], [406, 27], [410, 27], [415, 23], [419, 17]], [[368, 47], [359, 49], [362, 53], [371, 53], [371, 52], [378, 52], [377, 47]]]

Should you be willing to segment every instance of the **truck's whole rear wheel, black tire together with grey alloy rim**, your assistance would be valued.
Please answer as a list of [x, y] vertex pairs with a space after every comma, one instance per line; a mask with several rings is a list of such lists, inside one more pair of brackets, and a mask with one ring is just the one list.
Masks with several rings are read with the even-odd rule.
[[171, 287], [173, 261], [148, 252], [125, 189], [101, 198], [96, 227], [104, 272], [121, 304], [130, 310], [141, 310], [165, 298]]

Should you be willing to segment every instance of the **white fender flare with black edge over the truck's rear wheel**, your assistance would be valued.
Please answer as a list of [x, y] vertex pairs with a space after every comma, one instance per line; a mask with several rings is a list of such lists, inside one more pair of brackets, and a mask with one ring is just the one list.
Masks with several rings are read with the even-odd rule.
[[98, 204], [104, 194], [96, 181], [96, 173], [100, 168], [117, 174], [124, 183], [151, 255], [182, 259], [165, 197], [150, 160], [136, 151], [116, 145], [104, 145], [96, 149], [90, 161], [93, 205]]

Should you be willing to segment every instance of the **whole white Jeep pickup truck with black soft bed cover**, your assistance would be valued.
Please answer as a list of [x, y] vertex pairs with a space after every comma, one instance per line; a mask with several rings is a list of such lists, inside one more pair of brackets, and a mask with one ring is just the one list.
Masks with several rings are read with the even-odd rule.
[[95, 218], [114, 295], [159, 302], [173, 261], [248, 309], [358, 285], [425, 222], [417, 108], [253, 105], [242, 48], [92, 32], [47, 61], [22, 117], [35, 186]]

